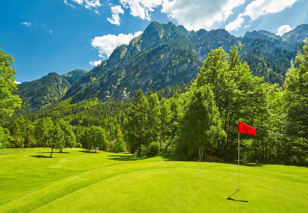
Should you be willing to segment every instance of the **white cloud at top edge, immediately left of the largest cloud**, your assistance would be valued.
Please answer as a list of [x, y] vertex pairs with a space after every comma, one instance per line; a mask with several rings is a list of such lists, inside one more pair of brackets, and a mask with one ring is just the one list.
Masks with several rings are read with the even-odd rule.
[[151, 20], [154, 8], [160, 6], [163, 0], [120, 0], [124, 8], [130, 9], [130, 14], [141, 19]]

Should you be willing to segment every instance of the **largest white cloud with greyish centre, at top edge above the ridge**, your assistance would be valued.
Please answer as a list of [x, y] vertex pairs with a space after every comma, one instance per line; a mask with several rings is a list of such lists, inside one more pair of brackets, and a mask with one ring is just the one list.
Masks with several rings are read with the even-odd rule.
[[175, 19], [187, 30], [209, 30], [215, 22], [224, 22], [233, 8], [242, 5], [245, 0], [164, 0], [161, 12]]

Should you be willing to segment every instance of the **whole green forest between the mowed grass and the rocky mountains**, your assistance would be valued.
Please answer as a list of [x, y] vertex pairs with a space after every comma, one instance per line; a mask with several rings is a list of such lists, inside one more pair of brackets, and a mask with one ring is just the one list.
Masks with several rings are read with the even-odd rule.
[[[211, 50], [188, 84], [157, 92], [139, 89], [124, 100], [89, 98], [74, 103], [67, 98], [2, 118], [0, 148], [82, 147], [140, 157], [230, 162], [237, 159], [241, 121], [257, 134], [240, 135], [242, 161], [307, 165], [308, 40], [295, 64], [276, 77], [270, 72], [253, 75], [245, 62], [253, 56], [240, 55], [242, 47], [234, 45], [229, 53], [221, 47]], [[265, 78], [276, 78], [278, 84]]]

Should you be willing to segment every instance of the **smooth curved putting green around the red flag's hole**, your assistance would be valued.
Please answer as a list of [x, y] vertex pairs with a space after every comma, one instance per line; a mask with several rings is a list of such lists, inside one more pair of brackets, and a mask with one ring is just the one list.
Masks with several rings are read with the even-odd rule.
[[308, 208], [302, 197], [307, 199], [305, 184], [243, 174], [237, 192], [236, 178], [234, 172], [188, 168], [130, 172], [75, 191], [34, 212], [284, 212]]

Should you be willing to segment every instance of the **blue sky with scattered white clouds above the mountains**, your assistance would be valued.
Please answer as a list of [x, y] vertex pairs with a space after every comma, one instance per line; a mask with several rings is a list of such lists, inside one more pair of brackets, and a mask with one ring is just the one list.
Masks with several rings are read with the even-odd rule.
[[[151, 21], [188, 30], [286, 32], [308, 23], [306, 0], [3, 1], [0, 46], [15, 58], [16, 81], [91, 70]], [[279, 32], [278, 32], [279, 29]]]

